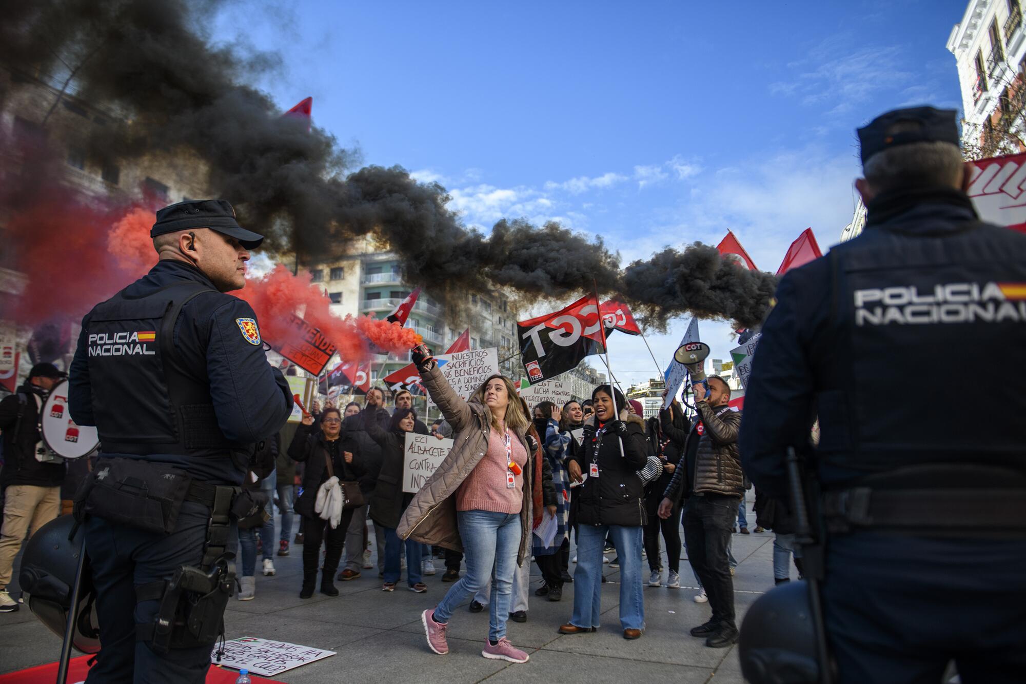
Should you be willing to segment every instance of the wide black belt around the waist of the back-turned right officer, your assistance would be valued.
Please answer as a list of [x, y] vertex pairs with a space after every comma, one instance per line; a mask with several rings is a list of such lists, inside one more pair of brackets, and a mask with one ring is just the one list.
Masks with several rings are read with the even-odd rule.
[[832, 534], [872, 530], [954, 538], [1026, 536], [1022, 487], [853, 487], [824, 492], [822, 504]]

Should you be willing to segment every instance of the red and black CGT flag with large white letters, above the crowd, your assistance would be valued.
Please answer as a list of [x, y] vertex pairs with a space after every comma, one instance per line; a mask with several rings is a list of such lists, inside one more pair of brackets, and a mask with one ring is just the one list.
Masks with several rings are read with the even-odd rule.
[[520, 358], [531, 383], [577, 367], [605, 351], [598, 299], [589, 294], [559, 311], [518, 321]]

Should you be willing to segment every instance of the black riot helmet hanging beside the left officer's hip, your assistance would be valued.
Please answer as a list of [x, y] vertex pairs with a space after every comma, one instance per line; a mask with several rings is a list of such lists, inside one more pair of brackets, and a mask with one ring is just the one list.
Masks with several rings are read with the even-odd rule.
[[[18, 580], [25, 592], [29, 610], [53, 634], [64, 637], [71, 610], [71, 596], [78, 570], [78, 554], [82, 549], [79, 529], [75, 539], [68, 534], [75, 524], [73, 516], [60, 516], [46, 523], [25, 545]], [[78, 619], [72, 644], [83, 653], [100, 650], [100, 628], [96, 619], [96, 590], [92, 586], [89, 559], [82, 568], [82, 587], [78, 593]]]

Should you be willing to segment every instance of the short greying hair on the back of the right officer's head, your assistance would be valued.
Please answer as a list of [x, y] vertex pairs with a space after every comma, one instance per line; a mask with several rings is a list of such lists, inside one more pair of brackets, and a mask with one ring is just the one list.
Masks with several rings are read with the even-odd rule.
[[[887, 133], [906, 132], [918, 125], [914, 121], [899, 121], [887, 127]], [[957, 146], [928, 140], [877, 152], [866, 160], [863, 175], [876, 192], [938, 186], [957, 188], [963, 168]]]

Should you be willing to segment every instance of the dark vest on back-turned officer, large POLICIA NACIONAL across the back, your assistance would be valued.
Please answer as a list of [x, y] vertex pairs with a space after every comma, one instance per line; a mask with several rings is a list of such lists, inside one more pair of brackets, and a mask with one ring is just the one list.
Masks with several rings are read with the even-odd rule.
[[1026, 350], [1022, 237], [975, 222], [933, 235], [871, 230], [828, 256], [831, 325], [844, 341], [829, 361], [834, 387], [818, 394], [824, 459], [867, 474], [1026, 471], [1026, 392], [1010, 381]]

